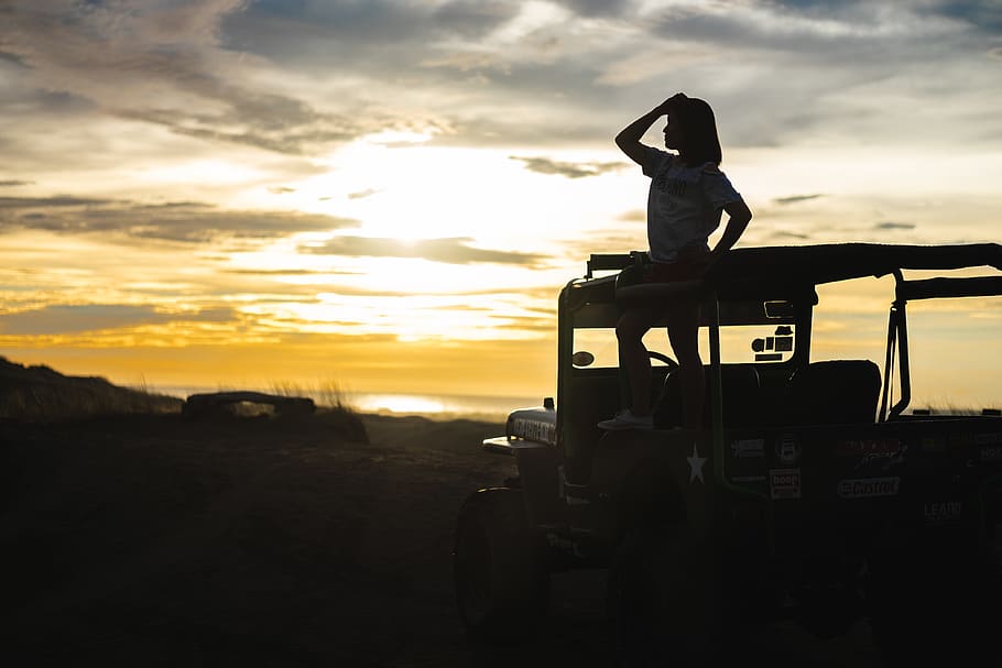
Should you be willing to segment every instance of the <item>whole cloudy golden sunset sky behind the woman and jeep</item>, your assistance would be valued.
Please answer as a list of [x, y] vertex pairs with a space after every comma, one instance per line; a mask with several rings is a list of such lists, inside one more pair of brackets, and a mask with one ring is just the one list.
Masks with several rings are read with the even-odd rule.
[[679, 90], [740, 245], [1002, 241], [998, 0], [3, 0], [0, 90], [0, 354], [127, 385], [552, 394]]

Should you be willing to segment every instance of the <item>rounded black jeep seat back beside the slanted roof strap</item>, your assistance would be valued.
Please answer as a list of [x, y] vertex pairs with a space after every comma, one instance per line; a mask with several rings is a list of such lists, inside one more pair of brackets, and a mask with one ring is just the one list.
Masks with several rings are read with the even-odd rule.
[[868, 424], [876, 419], [880, 368], [870, 360], [812, 362], [786, 384], [783, 415], [791, 425]]

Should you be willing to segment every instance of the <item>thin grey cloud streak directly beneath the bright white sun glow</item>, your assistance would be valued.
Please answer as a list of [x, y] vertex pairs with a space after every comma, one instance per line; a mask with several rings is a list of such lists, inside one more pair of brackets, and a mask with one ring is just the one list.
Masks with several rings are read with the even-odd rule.
[[349, 258], [421, 258], [446, 264], [522, 264], [537, 265], [544, 258], [535, 253], [519, 253], [478, 249], [468, 245], [470, 238], [421, 239], [401, 241], [375, 237], [341, 236], [322, 245], [301, 245], [299, 252]]

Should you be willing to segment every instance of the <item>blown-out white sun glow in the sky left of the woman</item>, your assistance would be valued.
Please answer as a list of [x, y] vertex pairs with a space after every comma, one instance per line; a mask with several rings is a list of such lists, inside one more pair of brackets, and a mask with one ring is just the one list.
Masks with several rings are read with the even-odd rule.
[[[593, 177], [575, 184], [533, 174], [511, 155], [502, 150], [357, 143], [333, 156], [325, 175], [296, 184], [290, 197], [305, 211], [358, 219], [371, 237], [471, 237], [526, 250], [564, 238], [566, 226], [587, 229], [613, 216], [613, 180]], [[612, 150], [557, 155], [589, 166], [621, 160]], [[360, 191], [369, 195], [350, 197]], [[330, 198], [320, 200], [320, 193]]]

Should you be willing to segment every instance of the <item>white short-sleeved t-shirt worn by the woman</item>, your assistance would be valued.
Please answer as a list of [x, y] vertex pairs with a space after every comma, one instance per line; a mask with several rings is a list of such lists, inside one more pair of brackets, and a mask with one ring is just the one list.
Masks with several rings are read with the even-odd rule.
[[643, 171], [651, 177], [647, 194], [647, 243], [655, 262], [674, 262], [689, 244], [708, 248], [720, 226], [723, 207], [741, 195], [714, 163], [686, 165], [680, 157], [644, 146]]

